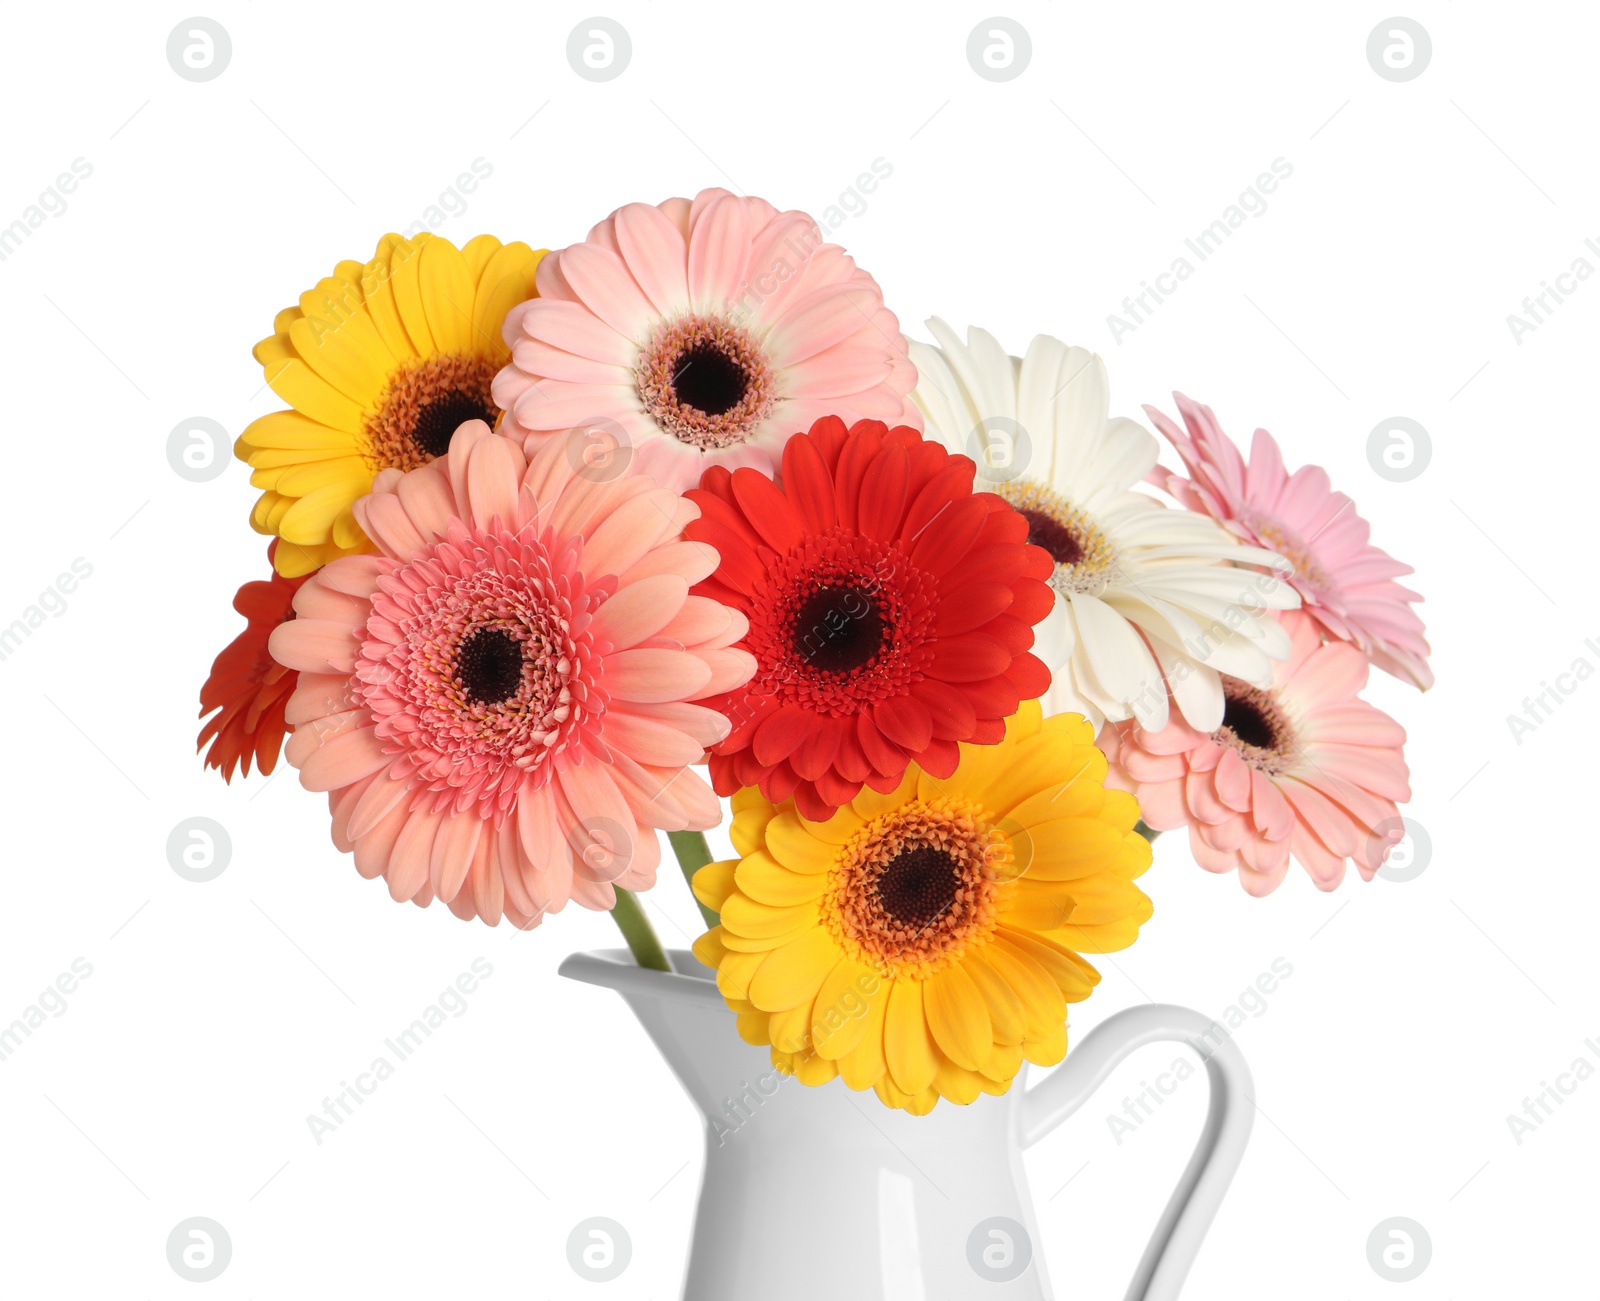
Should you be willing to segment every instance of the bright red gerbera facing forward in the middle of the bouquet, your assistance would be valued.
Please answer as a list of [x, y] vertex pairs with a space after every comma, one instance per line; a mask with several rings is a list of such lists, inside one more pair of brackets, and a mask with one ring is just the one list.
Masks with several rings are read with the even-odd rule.
[[696, 592], [749, 618], [760, 664], [712, 703], [733, 720], [709, 760], [718, 794], [758, 786], [829, 818], [907, 763], [950, 776], [958, 741], [995, 744], [1050, 687], [1029, 653], [1050, 557], [915, 429], [826, 418], [784, 446], [782, 486], [714, 466], [688, 498], [685, 536], [722, 555]]

